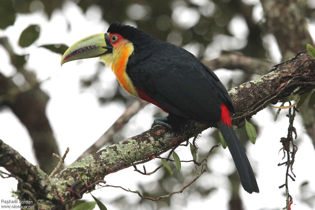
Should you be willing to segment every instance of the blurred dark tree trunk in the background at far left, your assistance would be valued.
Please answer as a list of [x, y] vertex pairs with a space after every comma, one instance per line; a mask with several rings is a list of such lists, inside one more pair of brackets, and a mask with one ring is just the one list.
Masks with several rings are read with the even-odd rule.
[[11, 78], [0, 73], [0, 107], [9, 107], [25, 125], [31, 136], [39, 166], [46, 173], [50, 173], [58, 161], [47, 154], [59, 153], [59, 148], [46, 116], [49, 96], [39, 87], [34, 73], [23, 67], [26, 62], [24, 55], [15, 54], [6, 37], [0, 38], [0, 44], [8, 51], [17, 72], [26, 80], [25, 84], [19, 87]]

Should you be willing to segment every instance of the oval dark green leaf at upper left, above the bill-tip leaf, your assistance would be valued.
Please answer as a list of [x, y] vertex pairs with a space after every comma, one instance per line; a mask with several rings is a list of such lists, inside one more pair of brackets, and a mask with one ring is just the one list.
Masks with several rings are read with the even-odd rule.
[[19, 39], [19, 45], [22, 48], [30, 46], [39, 37], [40, 27], [38, 25], [28, 26], [22, 31]]

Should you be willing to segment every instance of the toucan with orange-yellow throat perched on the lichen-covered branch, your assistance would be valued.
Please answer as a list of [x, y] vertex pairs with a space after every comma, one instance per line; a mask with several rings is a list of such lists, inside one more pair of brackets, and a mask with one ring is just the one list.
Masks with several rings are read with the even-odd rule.
[[209, 67], [185, 49], [121, 23], [112, 23], [107, 33], [74, 43], [62, 56], [61, 65], [93, 57], [112, 68], [129, 94], [169, 114], [155, 119], [155, 124], [176, 131], [186, 119], [192, 119], [218, 128], [244, 190], [259, 192], [252, 167], [232, 128], [233, 102]]

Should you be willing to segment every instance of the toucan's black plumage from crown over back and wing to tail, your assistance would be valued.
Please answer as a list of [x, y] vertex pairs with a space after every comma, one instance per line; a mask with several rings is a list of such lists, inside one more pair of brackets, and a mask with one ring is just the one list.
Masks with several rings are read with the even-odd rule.
[[140, 29], [113, 23], [107, 32], [120, 34], [133, 43], [134, 52], [129, 57], [126, 72], [135, 88], [167, 111], [171, 123], [177, 122], [171, 118], [190, 118], [219, 128], [243, 188], [249, 193], [259, 192], [237, 135], [230, 124], [222, 122], [222, 105], [232, 113], [235, 110], [226, 88], [215, 73], [185, 49], [162, 42]]

